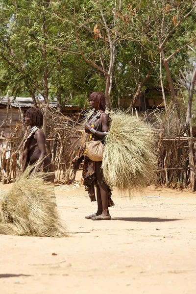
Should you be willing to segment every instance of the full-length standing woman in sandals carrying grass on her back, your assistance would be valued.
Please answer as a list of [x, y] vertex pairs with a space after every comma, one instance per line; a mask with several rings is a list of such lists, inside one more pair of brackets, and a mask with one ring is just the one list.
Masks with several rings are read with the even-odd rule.
[[[86, 219], [93, 221], [111, 220], [108, 207], [113, 206], [111, 190], [103, 180], [101, 171], [101, 161], [94, 162], [86, 154], [85, 143], [92, 139], [104, 140], [109, 130], [109, 116], [105, 113], [105, 97], [102, 92], [93, 92], [89, 98], [93, 114], [85, 123], [85, 131], [82, 135], [79, 159], [74, 162], [75, 167], [84, 159], [83, 178], [86, 191], [89, 193], [91, 201], [96, 201], [95, 186], [97, 188], [98, 211], [95, 214], [86, 216]], [[103, 142], [103, 141], [102, 141]], [[78, 158], [78, 157], [77, 157]]]

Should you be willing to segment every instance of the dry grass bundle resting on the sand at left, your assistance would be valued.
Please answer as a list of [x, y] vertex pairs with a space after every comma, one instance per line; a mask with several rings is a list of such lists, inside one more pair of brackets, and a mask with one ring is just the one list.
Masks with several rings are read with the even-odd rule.
[[27, 168], [8, 192], [0, 194], [0, 234], [60, 237], [65, 231], [56, 212], [54, 187], [46, 174]]

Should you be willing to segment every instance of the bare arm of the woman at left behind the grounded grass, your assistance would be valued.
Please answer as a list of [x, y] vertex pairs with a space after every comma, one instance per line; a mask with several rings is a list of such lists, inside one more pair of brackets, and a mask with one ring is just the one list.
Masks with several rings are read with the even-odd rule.
[[35, 139], [37, 141], [37, 145], [40, 150], [40, 157], [37, 161], [37, 164], [35, 166], [33, 173], [36, 173], [39, 171], [39, 168], [43, 162], [43, 159], [46, 156], [46, 138], [45, 138], [44, 132], [41, 129], [38, 129], [35, 132]]

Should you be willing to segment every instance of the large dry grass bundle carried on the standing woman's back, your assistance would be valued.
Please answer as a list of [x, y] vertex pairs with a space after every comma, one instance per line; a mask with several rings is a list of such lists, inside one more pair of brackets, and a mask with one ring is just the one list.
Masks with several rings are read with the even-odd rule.
[[102, 170], [105, 182], [119, 190], [141, 193], [156, 167], [155, 135], [141, 118], [117, 110], [106, 137]]

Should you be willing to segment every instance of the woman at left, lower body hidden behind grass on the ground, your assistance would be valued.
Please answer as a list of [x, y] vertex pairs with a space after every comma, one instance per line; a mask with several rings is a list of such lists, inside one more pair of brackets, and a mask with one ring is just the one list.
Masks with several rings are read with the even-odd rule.
[[25, 125], [31, 126], [30, 133], [23, 145], [23, 163], [22, 172], [25, 171], [28, 165], [34, 165], [35, 172], [52, 172], [47, 175], [46, 180], [54, 182], [55, 174], [52, 163], [46, 157], [46, 137], [42, 128], [43, 114], [39, 108], [29, 108], [26, 111]]

